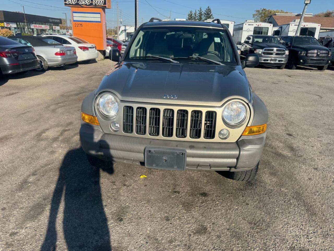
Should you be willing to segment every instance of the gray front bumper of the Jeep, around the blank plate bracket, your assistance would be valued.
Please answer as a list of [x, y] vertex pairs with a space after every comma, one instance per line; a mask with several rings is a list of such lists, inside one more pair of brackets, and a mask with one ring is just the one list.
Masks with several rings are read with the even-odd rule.
[[83, 151], [101, 159], [144, 166], [145, 147], [180, 148], [187, 151], [186, 169], [215, 171], [252, 169], [260, 161], [266, 138], [263, 133], [233, 143], [147, 139], [106, 134], [82, 121], [79, 135]]

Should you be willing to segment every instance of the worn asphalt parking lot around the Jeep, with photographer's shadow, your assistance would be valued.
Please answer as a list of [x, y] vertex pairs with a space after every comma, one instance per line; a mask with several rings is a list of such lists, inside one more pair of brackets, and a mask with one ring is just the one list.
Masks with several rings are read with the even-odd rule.
[[0, 250], [334, 250], [333, 68], [245, 70], [269, 125], [255, 181], [239, 183], [90, 166], [80, 106], [110, 65], [0, 80]]

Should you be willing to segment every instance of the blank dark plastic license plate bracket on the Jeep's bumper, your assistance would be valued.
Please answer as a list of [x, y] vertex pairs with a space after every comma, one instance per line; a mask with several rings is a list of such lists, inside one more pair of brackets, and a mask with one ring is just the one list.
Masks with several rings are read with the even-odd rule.
[[186, 167], [187, 151], [185, 149], [146, 147], [144, 156], [147, 168], [183, 171]]

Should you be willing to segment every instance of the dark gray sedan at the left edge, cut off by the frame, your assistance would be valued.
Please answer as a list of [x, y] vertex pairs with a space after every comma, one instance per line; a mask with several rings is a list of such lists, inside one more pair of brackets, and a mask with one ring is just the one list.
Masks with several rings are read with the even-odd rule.
[[34, 48], [0, 36], [0, 74], [26, 72], [38, 68]]

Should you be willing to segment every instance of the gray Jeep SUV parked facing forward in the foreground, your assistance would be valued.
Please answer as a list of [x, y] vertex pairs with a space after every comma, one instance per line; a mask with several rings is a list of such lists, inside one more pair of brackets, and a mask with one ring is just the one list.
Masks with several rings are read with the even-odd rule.
[[81, 106], [81, 146], [93, 165], [112, 161], [254, 179], [268, 112], [243, 68], [258, 65], [259, 56], [240, 61], [219, 20], [151, 18], [123, 56], [113, 50], [111, 60], [118, 63]]

